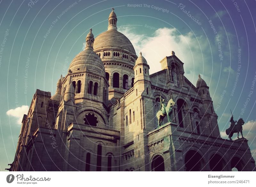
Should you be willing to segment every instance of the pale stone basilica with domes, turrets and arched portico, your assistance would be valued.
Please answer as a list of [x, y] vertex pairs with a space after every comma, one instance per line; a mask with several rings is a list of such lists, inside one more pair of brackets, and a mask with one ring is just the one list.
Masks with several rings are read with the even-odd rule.
[[114, 9], [85, 43], [54, 95], [36, 90], [8, 170], [255, 171], [248, 140], [220, 137], [207, 83], [193, 85], [174, 51], [149, 74]]

